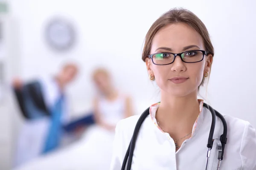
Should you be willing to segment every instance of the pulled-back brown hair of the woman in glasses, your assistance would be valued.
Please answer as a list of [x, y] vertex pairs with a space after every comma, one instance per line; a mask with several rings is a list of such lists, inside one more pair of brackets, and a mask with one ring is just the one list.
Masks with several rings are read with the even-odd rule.
[[[159, 31], [160, 28], [163, 28], [164, 26], [176, 23], [186, 23], [187, 25], [194, 28], [202, 36], [204, 40], [205, 51], [214, 56], [214, 48], [212, 46], [209, 33], [204, 23], [194, 13], [192, 13], [189, 10], [183, 8], [174, 8], [160, 16], [149, 28], [148, 33], [146, 34], [145, 37], [145, 45], [142, 54], [142, 59], [144, 62], [148, 55], [150, 55], [152, 40], [157, 31]], [[203, 83], [204, 78], [203, 81], [201, 82], [201, 85]]]

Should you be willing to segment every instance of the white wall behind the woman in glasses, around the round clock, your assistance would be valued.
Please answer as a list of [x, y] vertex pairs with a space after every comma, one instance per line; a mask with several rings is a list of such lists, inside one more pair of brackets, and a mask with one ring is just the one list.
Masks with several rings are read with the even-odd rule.
[[[256, 2], [251, 0], [13, 0], [12, 18], [19, 26], [17, 54], [21, 77], [52, 74], [63, 59], [80, 63], [72, 86], [76, 112], [90, 108], [90, 71], [108, 66], [119, 88], [132, 94], [137, 113], [157, 101], [141, 60], [143, 40], [154, 20], [173, 7], [185, 7], [207, 26], [215, 57], [208, 100], [220, 113], [250, 121], [256, 127]], [[56, 53], [44, 41], [45, 22], [61, 14], [73, 21], [78, 42], [68, 53]]]

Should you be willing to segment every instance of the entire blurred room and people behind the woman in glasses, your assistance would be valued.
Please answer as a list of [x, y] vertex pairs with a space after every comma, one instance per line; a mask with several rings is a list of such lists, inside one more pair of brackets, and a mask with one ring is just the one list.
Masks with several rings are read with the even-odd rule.
[[108, 169], [115, 123], [160, 99], [141, 54], [174, 7], [194, 12], [215, 48], [202, 96], [256, 127], [254, 0], [0, 0], [0, 170]]

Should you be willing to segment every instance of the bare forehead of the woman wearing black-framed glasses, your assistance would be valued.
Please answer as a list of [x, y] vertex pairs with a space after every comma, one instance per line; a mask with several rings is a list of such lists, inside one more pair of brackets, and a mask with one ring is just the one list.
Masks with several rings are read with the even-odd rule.
[[183, 47], [197, 45], [204, 49], [204, 41], [194, 28], [185, 24], [177, 23], [161, 28], [154, 36], [151, 46], [151, 54], [159, 47], [172, 48], [172, 52], [180, 53]]

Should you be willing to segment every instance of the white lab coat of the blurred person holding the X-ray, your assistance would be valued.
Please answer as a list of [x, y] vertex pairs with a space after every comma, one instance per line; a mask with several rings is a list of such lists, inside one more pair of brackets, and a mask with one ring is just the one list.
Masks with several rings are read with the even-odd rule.
[[[54, 79], [42, 77], [39, 79], [42, 85], [42, 94], [47, 108], [51, 108], [60, 97], [60, 90]], [[67, 102], [63, 103], [62, 122], [69, 120], [69, 108]], [[49, 131], [50, 119], [45, 116], [40, 119], [25, 120], [18, 139], [15, 152], [15, 165], [18, 166], [39, 156], [43, 150]]]

